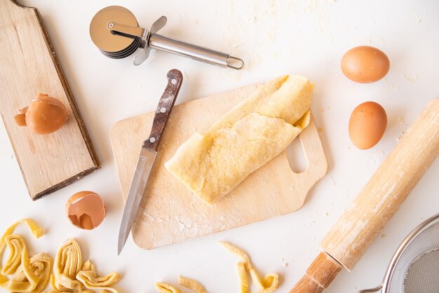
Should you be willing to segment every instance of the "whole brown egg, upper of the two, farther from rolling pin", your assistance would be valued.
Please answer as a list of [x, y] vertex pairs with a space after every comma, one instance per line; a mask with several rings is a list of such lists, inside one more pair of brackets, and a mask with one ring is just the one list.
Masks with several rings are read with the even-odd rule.
[[379, 81], [390, 69], [387, 55], [374, 47], [359, 46], [351, 48], [342, 57], [343, 74], [357, 83]]

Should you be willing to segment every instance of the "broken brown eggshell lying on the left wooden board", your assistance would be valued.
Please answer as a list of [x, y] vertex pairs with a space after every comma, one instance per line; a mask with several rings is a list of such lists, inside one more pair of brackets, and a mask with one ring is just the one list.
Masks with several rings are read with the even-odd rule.
[[[62, 127], [69, 118], [69, 112], [60, 100], [39, 94], [26, 111], [26, 125], [39, 135], [46, 135]], [[16, 121], [16, 120], [15, 120]]]

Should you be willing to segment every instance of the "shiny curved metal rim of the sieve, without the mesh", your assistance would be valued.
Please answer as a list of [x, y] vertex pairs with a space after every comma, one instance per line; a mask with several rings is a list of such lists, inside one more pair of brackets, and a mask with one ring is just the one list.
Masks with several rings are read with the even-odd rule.
[[429, 227], [437, 224], [439, 222], [439, 214], [435, 214], [432, 217], [429, 217], [424, 222], [416, 226], [416, 228], [413, 229], [412, 232], [410, 232], [409, 235], [405, 237], [403, 242], [399, 245], [398, 249], [396, 250], [395, 254], [393, 254], [393, 257], [390, 261], [389, 266], [387, 267], [386, 273], [384, 274], [383, 281], [381, 282], [381, 285], [378, 287], [375, 287], [373, 289], [364, 289], [358, 291], [358, 293], [367, 293], [367, 292], [377, 292], [379, 289], [381, 289], [382, 293], [388, 293], [389, 292], [389, 282], [393, 276], [393, 273], [395, 272], [396, 264], [398, 264], [398, 261], [400, 260], [401, 256], [403, 255], [403, 252], [405, 249], [412, 243], [414, 238], [417, 238], [422, 231], [425, 231]]

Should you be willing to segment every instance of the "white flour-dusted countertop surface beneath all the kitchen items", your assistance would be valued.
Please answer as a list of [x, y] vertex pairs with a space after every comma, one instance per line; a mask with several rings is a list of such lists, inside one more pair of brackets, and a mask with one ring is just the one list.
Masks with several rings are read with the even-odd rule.
[[[27, 236], [31, 253], [45, 250], [53, 257], [62, 241], [76, 238], [84, 257], [94, 261], [98, 271], [123, 274], [117, 286], [120, 292], [156, 292], [155, 282], [176, 285], [179, 274], [202, 282], [210, 293], [238, 292], [238, 259], [218, 245], [219, 240], [248, 252], [261, 275], [278, 272], [277, 292], [288, 292], [320, 251], [320, 240], [401, 133], [429, 100], [439, 97], [436, 0], [21, 2], [36, 6], [43, 16], [102, 170], [32, 202], [1, 123], [0, 230], [23, 217], [35, 219], [46, 236], [31, 240], [25, 229], [19, 231]], [[139, 67], [132, 64], [133, 57], [104, 57], [90, 40], [88, 26], [97, 11], [110, 5], [130, 9], [147, 28], [166, 15], [168, 24], [161, 34], [241, 57], [245, 68], [222, 69], [154, 51]], [[391, 69], [381, 81], [358, 84], [342, 74], [342, 55], [360, 45], [376, 46], [389, 56]], [[166, 85], [166, 72], [172, 68], [184, 73], [177, 103], [282, 74], [307, 76], [316, 85], [312, 111], [322, 128], [329, 169], [297, 212], [151, 251], [136, 247], [130, 238], [117, 257], [123, 200], [109, 130], [116, 121], [154, 110]], [[353, 108], [368, 100], [386, 109], [389, 123], [377, 146], [360, 151], [351, 144], [348, 121]], [[297, 154], [299, 145], [294, 147], [291, 152]], [[296, 170], [304, 165], [304, 158], [297, 160]], [[353, 271], [339, 273], [325, 292], [356, 292], [381, 282], [407, 233], [439, 212], [438, 172], [436, 161]], [[65, 216], [67, 198], [82, 190], [100, 193], [107, 203], [107, 218], [93, 231], [76, 229]]]

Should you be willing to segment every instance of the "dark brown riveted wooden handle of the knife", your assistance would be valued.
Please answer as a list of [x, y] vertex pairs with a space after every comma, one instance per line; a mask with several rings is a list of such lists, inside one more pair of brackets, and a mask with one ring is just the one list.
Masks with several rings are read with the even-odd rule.
[[157, 151], [158, 149], [163, 130], [166, 123], [168, 123], [170, 112], [173, 110], [175, 100], [177, 100], [178, 92], [182, 86], [183, 74], [180, 70], [172, 69], [168, 71], [166, 77], [168, 78], [168, 86], [166, 86], [160, 101], [158, 101], [151, 133], [142, 145], [143, 149], [149, 149], [150, 151]]

